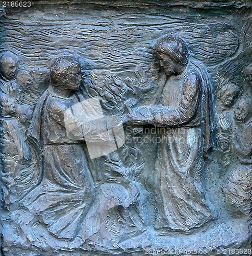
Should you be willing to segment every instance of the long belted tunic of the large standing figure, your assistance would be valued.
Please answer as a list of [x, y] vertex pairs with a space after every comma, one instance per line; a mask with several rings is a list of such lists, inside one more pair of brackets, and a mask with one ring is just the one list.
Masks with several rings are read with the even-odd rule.
[[157, 229], [188, 231], [211, 219], [202, 186], [202, 95], [200, 75], [190, 64], [169, 77], [153, 107], [155, 124], [170, 127], [161, 135], [156, 161]]

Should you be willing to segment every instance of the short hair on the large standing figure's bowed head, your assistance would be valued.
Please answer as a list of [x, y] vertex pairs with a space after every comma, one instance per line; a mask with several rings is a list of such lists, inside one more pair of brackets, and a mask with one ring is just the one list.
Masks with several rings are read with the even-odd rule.
[[167, 35], [161, 38], [154, 46], [154, 53], [163, 53], [182, 66], [187, 64], [189, 58], [188, 47], [179, 36]]

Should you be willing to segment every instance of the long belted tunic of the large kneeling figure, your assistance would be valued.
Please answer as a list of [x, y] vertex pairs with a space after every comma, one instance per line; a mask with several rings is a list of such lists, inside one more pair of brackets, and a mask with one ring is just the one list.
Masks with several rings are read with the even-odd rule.
[[94, 200], [94, 182], [83, 145], [68, 139], [64, 126], [64, 111], [78, 102], [75, 95], [61, 98], [48, 93], [41, 124], [34, 129], [41, 131], [43, 179], [23, 203], [40, 215], [58, 238], [74, 238]]

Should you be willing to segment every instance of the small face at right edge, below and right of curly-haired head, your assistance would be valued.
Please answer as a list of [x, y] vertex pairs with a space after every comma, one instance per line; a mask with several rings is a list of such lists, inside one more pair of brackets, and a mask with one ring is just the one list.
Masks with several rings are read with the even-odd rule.
[[234, 112], [235, 119], [238, 121], [246, 121], [247, 119], [249, 119], [252, 113], [251, 99], [243, 96], [239, 100]]

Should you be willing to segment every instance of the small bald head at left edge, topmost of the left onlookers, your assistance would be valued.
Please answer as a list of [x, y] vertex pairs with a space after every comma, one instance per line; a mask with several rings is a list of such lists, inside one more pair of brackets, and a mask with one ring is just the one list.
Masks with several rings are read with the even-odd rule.
[[17, 73], [17, 58], [11, 52], [4, 53], [0, 58], [1, 74], [8, 80], [14, 79]]

